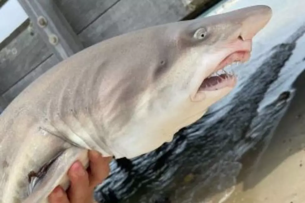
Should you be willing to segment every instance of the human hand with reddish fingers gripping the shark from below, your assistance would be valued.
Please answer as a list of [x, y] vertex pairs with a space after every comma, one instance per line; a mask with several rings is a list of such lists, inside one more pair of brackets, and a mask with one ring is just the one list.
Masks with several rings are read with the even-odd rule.
[[70, 187], [64, 191], [56, 187], [49, 195], [49, 203], [92, 203], [94, 187], [109, 174], [109, 163], [112, 157], [102, 157], [96, 151], [89, 151], [89, 167], [87, 170], [76, 161], [68, 171]]

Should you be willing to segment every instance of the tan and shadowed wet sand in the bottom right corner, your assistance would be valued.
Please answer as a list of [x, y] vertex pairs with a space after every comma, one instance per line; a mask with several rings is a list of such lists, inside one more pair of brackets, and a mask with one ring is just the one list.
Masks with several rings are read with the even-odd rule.
[[224, 202], [305, 202], [305, 72], [293, 86], [292, 103], [255, 171]]

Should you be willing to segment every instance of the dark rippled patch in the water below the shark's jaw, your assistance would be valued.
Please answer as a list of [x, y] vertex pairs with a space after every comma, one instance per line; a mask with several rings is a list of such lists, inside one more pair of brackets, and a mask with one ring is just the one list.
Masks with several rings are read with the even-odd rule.
[[96, 188], [96, 200], [191, 202], [236, 184], [237, 176], [255, 167], [289, 106], [293, 91], [282, 92], [258, 111], [304, 31], [265, 53], [266, 59], [228, 106], [208, 112], [153, 152], [114, 160], [110, 176]]

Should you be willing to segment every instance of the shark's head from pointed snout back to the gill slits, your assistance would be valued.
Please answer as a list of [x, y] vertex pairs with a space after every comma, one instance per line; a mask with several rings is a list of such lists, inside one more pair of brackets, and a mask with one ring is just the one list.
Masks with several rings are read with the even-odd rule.
[[104, 43], [113, 60], [100, 93], [101, 112], [115, 156], [132, 158], [171, 141], [225, 97], [237, 78], [223, 68], [250, 58], [252, 38], [271, 15], [268, 6], [246, 7]]

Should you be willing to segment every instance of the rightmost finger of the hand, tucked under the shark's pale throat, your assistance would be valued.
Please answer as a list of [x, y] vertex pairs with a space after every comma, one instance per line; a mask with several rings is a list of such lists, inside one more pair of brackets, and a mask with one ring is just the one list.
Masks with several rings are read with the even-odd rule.
[[90, 187], [94, 188], [101, 183], [109, 174], [109, 163], [112, 157], [102, 157], [97, 151], [91, 150], [88, 153], [90, 160], [89, 182]]

